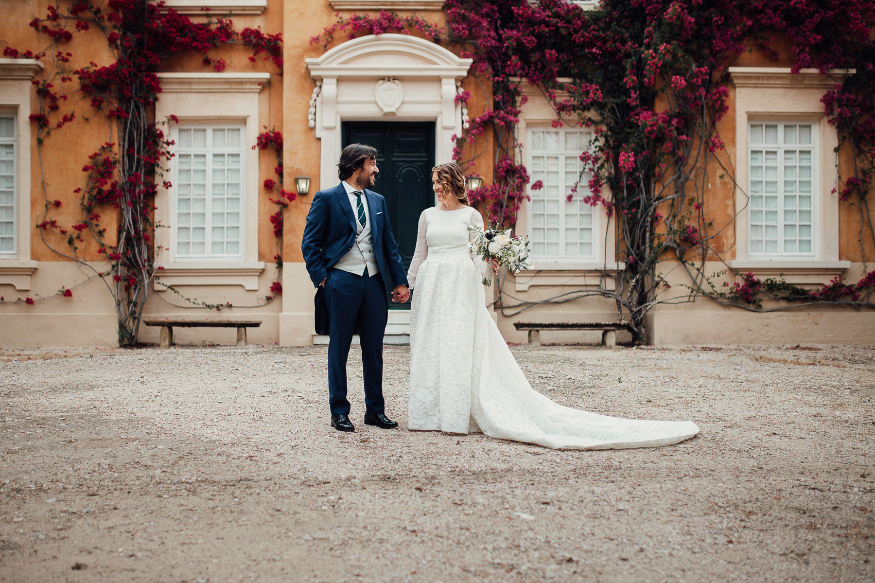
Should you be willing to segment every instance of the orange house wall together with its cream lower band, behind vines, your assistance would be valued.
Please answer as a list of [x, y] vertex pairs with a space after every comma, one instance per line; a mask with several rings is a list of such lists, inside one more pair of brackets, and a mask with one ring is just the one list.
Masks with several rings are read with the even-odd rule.
[[[3, 41], [7, 46], [12, 46], [21, 51], [29, 49], [38, 52], [43, 50], [46, 46], [45, 37], [35, 32], [26, 23], [34, 16], [44, 16], [48, 4], [50, 4], [50, 0], [18, 0], [14, 3], [5, 3], [4, 18], [0, 19], [0, 41]], [[340, 14], [350, 18], [355, 12], [357, 11], [342, 11]], [[312, 309], [310, 298], [312, 286], [306, 280], [304, 273], [303, 259], [300, 253], [300, 239], [312, 194], [321, 188], [332, 185], [320, 184], [319, 180], [321, 164], [319, 158], [320, 141], [315, 136], [314, 130], [308, 127], [307, 123], [309, 101], [315, 84], [304, 66], [304, 59], [315, 58], [323, 53], [324, 49], [321, 42], [311, 45], [311, 38], [320, 34], [326, 26], [336, 22], [336, 14], [336, 11], [332, 9], [331, 4], [327, 1], [302, 2], [294, 0], [284, 2], [283, 0], [269, 0], [267, 10], [260, 15], [231, 17], [236, 30], [252, 26], [261, 27], [262, 31], [267, 33], [283, 33], [284, 71], [282, 76], [278, 74], [279, 72], [272, 65], [265, 63], [261, 59], [255, 63], [250, 62], [248, 60], [250, 51], [243, 46], [222, 46], [210, 53], [212, 58], [226, 61], [226, 71], [228, 72], [268, 71], [273, 74], [269, 87], [262, 89], [258, 96], [260, 108], [258, 123], [260, 126], [266, 126], [268, 129], [276, 128], [283, 132], [283, 165], [285, 176], [283, 186], [287, 190], [294, 190], [294, 178], [296, 176], [311, 177], [310, 193], [292, 202], [290, 207], [284, 212], [284, 232], [281, 243], [282, 249], [280, 249], [280, 242], [276, 239], [269, 221], [270, 214], [276, 211], [276, 206], [269, 201], [269, 198], [276, 198], [276, 196], [265, 191], [261, 186], [264, 179], [276, 179], [274, 172], [276, 157], [271, 150], [261, 151], [258, 163], [258, 259], [268, 265], [259, 275], [258, 289], [255, 290], [251, 287], [244, 289], [239, 284], [235, 286], [223, 284], [222, 282], [215, 284], [189, 284], [190, 287], [185, 289], [186, 296], [193, 299], [219, 303], [231, 301], [238, 306], [255, 308], [223, 309], [221, 314], [214, 314], [219, 317], [240, 316], [263, 319], [263, 326], [250, 334], [250, 339], [254, 341], [272, 343], [282, 339], [283, 334], [286, 334], [289, 338], [293, 337], [293, 341], [296, 343], [309, 341], [309, 334], [311, 332], [311, 312], [309, 311]], [[372, 14], [375, 15], [375, 13]], [[434, 25], [444, 24], [445, 15], [443, 11], [422, 11], [420, 14]], [[196, 16], [193, 18], [202, 21], [207, 17]], [[767, 34], [766, 36], [770, 35]], [[348, 34], [346, 32], [338, 32], [335, 34], [332, 46], [337, 46], [347, 39]], [[2, 43], [0, 43], [0, 46], [2, 46]], [[76, 33], [73, 40], [66, 43], [63, 48], [65, 51], [68, 50], [70, 53], [73, 53], [71, 61], [67, 65], [71, 68], [85, 66], [92, 60], [99, 65], [104, 65], [111, 62], [112, 59], [105, 39], [96, 30]], [[450, 46], [447, 48], [458, 53], [457, 47]], [[779, 53], [777, 60], [772, 60], [770, 55], [763, 53], [752, 45], [751, 50], [740, 55], [732, 65], [742, 67], [791, 67], [793, 65], [792, 46], [790, 46], [787, 39], [776, 37], [772, 43], [772, 48]], [[202, 57], [197, 54], [179, 54], [167, 63], [164, 71], [212, 71], [211, 67], [204, 65], [201, 61]], [[48, 70], [51, 67], [51, 60], [44, 60], [44, 62], [46, 71], [38, 74], [38, 79], [52, 74]], [[75, 82], [66, 85], [69, 85], [72, 91]], [[488, 83], [476, 79], [473, 74], [469, 74], [462, 81], [462, 87], [472, 95], [471, 101], [468, 103], [469, 116], [478, 116], [491, 100]], [[35, 141], [31, 142], [31, 223], [41, 221], [45, 213], [45, 201], [55, 199], [60, 200], [61, 205], [60, 207], [50, 207], [47, 218], [55, 219], [62, 228], [69, 228], [73, 223], [81, 221], [81, 194], [73, 193], [73, 189], [84, 185], [85, 174], [81, 172], [81, 167], [87, 163], [88, 154], [97, 150], [110, 136], [105, 118], [103, 116], [92, 116], [92, 112], [88, 110], [88, 102], [81, 101], [79, 97], [80, 95], [71, 93], [70, 98], [66, 102], [61, 102], [61, 110], [52, 116], [53, 119], [57, 119], [60, 115], [75, 110], [77, 119], [73, 123], [69, 123], [66, 127], [56, 130], [46, 137], [45, 143], [41, 148], [37, 147]], [[733, 221], [738, 209], [736, 207], [733, 165], [736, 159], [736, 132], [738, 129], [735, 127], [735, 117], [732, 114], [735, 109], [735, 100], [736, 91], [732, 83], [730, 83], [727, 103], [729, 111], [718, 123], [718, 132], [725, 143], [725, 151], [719, 151], [715, 158], [711, 158], [708, 167], [700, 168], [700, 174], [697, 175], [697, 178], [700, 179], [700, 185], [703, 185], [705, 192], [704, 220], [712, 221], [712, 226], [708, 229], [708, 233], [709, 235], [716, 235], [711, 241], [711, 245], [718, 251], [721, 258], [725, 260], [734, 258], [736, 244]], [[26, 116], [36, 111], [37, 106], [36, 96], [31, 95], [31, 110], [22, 113]], [[208, 116], [209, 113], [205, 112], [204, 115]], [[86, 119], [86, 117], [89, 117], [89, 119]], [[31, 124], [31, 130], [36, 130], [35, 124]], [[489, 132], [484, 136], [478, 137], [475, 144], [465, 148], [465, 157], [463, 158], [463, 161], [467, 162], [469, 158], [473, 157], [473, 164], [465, 166], [465, 172], [483, 176], [486, 185], [492, 182], [493, 160], [496, 153], [493, 139]], [[839, 171], [846, 175], [849, 167], [848, 151], [846, 149], [840, 152], [839, 160]], [[445, 161], [447, 160], [437, 159], [437, 163]], [[826, 170], [830, 171], [830, 169]], [[45, 193], [43, 190], [44, 177]], [[827, 196], [830, 195], [835, 196], [827, 193]], [[870, 197], [872, 197], [872, 194], [870, 194]], [[102, 227], [108, 228], [111, 233], [114, 230], [113, 221], [116, 216], [115, 212], [113, 209], [99, 209], [97, 212], [102, 214]], [[858, 208], [851, 207], [851, 205], [844, 202], [840, 203], [838, 220], [838, 258], [855, 262], [853, 269], [856, 274], [859, 262], [861, 262], [864, 256], [870, 259], [872, 256], [875, 256], [875, 245], [872, 244], [871, 237], [864, 237], [865, 242], [861, 249], [859, 233], [861, 225], [865, 223], [861, 222]], [[868, 225], [866, 225], [866, 228], [868, 228]], [[44, 235], [47, 237], [49, 244], [43, 242]], [[88, 237], [86, 238], [88, 239]], [[100, 258], [95, 253], [95, 249], [96, 245], [94, 242], [87, 242], [81, 245], [81, 251], [84, 251], [88, 259]], [[45, 232], [37, 228], [32, 229], [31, 256], [29, 258], [43, 263], [38, 267], [33, 276], [32, 290], [38, 290], [38, 293], [43, 296], [50, 295], [60, 285], [69, 284], [74, 277], [81, 276], [81, 274], [77, 273], [78, 266], [70, 263], [62, 255], [66, 250], [66, 241], [63, 237], [46, 235]], [[273, 257], [277, 251], [282, 252], [283, 260], [286, 264], [285, 276], [283, 278], [286, 289], [284, 290], [282, 302], [274, 301], [268, 304], [264, 302], [264, 297], [269, 294], [268, 288], [271, 282], [276, 281], [276, 271], [273, 270], [271, 263], [273, 263]], [[622, 257], [618, 257], [618, 259], [622, 260]], [[716, 256], [708, 257], [707, 259], [717, 263], [713, 261], [717, 259]], [[850, 272], [848, 278], [851, 278]], [[4, 320], [4, 322], [13, 322], [14, 326], [17, 327], [15, 329], [21, 331], [22, 338], [25, 338], [26, 334], [31, 333], [31, 328], [34, 327], [32, 323], [35, 321], [49, 322], [49, 324], [44, 325], [44, 330], [50, 331], [52, 330], [52, 325], [60, 317], [70, 317], [75, 320], [74, 317], [76, 317], [77, 313], [85, 314], [81, 315], [83, 320], [75, 320], [76, 322], [88, 322], [91, 321], [88, 319], [99, 317], [104, 322], [104, 324], [101, 324], [103, 330], [100, 333], [102, 334], [101, 337], [109, 338], [109, 342], [111, 342], [114, 338], [113, 328], [115, 326], [115, 313], [113, 313], [111, 301], [109, 304], [106, 302], [108, 294], [102, 289], [102, 284], [96, 282], [88, 285], [91, 287], [74, 292], [73, 299], [54, 299], [45, 303], [38, 302], [37, 306], [0, 306], [2, 308], [0, 309], [0, 315], [4, 317], [14, 316], [14, 319], [10, 318]], [[533, 284], [528, 291], [514, 291], [513, 280], [510, 280], [510, 283], [507, 285], [509, 285], [507, 290], [510, 291], [515, 299], [519, 300], [532, 299], [541, 301], [556, 295], [557, 289], [561, 292], [569, 290], [567, 286], [556, 288], [556, 286], [551, 287], [549, 284]], [[5, 287], [0, 289], [0, 295], [4, 293], [11, 297], [14, 297], [13, 294], [22, 297], [25, 295], [37, 295], [31, 291], [18, 292], [15, 289], [10, 291], [10, 284], [5, 284]], [[206, 308], [186, 311], [181, 308], [188, 306], [169, 306], [167, 303], [162, 303], [163, 300], [159, 300], [158, 296], [159, 293], [153, 294], [150, 304], [146, 309], [147, 313], [162, 315], [186, 313], [193, 316], [206, 315], [208, 313]], [[163, 298], [169, 296], [170, 294], [165, 292]], [[175, 301], [175, 299], [171, 299]], [[677, 322], [683, 322], [683, 319], [688, 317], [689, 311], [708, 310], [710, 307], [713, 306], [706, 301], [697, 302], [695, 306], [676, 307], [675, 311], [666, 311], [663, 315], [669, 319], [674, 318]], [[604, 320], [612, 318], [613, 312], [613, 303], [608, 300], [582, 299], [562, 305], [537, 306], [526, 312], [525, 318], [530, 320], [571, 320], [579, 318], [580, 313], [585, 313], [591, 315], [595, 320]], [[713, 318], [717, 320], [713, 321], [718, 321], [722, 318], [725, 319], [725, 322], [732, 323], [737, 319], [737, 314], [732, 315], [735, 314], [734, 312], [732, 314], [728, 312], [719, 314], [714, 312], [714, 314], [716, 315], [713, 315]], [[38, 317], [43, 318], [43, 320], [37, 320]], [[284, 323], [283, 318], [286, 318]], [[515, 313], [507, 313], [499, 317], [501, 330], [509, 341], [524, 341], [524, 338], [520, 334], [515, 333], [512, 327], [512, 322], [518, 319], [519, 316], [516, 316]], [[70, 321], [73, 322], [73, 320]], [[760, 320], [763, 319], [757, 316], [750, 321], [758, 322]], [[712, 320], [705, 318], [702, 321], [711, 322]], [[719, 321], [722, 322], [724, 320]], [[10, 326], [13, 324], [10, 324]], [[3, 325], [0, 324], [0, 326]], [[88, 328], [80, 324], [76, 324], [73, 327], [81, 327], [82, 330]], [[294, 328], [294, 334], [283, 333], [283, 327]], [[678, 324], [677, 329], [680, 330], [681, 328], [683, 327]], [[675, 328], [672, 328], [669, 324], [663, 323], [660, 326], [655, 326], [655, 329], [667, 331], [658, 337], [656, 341], [673, 341], [671, 339], [674, 339], [674, 341], [685, 341], [683, 339], [687, 338], [687, 336], [683, 336], [680, 332], [675, 332]], [[778, 322], [775, 324], [775, 329], [779, 332], [776, 332], [773, 336], [774, 338], [779, 338], [790, 327]], [[146, 331], [141, 336], [144, 337], [144, 340], [151, 341], [152, 338], [148, 334], [152, 333], [157, 337], [157, 332], [154, 329]], [[51, 332], [45, 332], [44, 336], [39, 336], [38, 338], [56, 338], [52, 334]], [[100, 335], [93, 330], [88, 333], [83, 332], [82, 334], [84, 335], [81, 339], [67, 340], [64, 337], [65, 340], [60, 342], [92, 343], [96, 342], [94, 340], [95, 336]], [[705, 333], [703, 332], [702, 334]], [[701, 334], [700, 336], [695, 336], [694, 334], [690, 336], [690, 339], [691, 341], [698, 341], [697, 338], [702, 337], [704, 336]], [[738, 341], [746, 341], [745, 339], [751, 337], [751, 334], [742, 331], [739, 332]], [[34, 338], [37, 338], [37, 336], [34, 336]], [[73, 337], [70, 336], [70, 338]], [[201, 341], [204, 338], [213, 340], [212, 336], [208, 336], [201, 331], [197, 334], [192, 334], [191, 338], [192, 341]], [[835, 338], [841, 341], [841, 334], [837, 332]], [[219, 339], [219, 341], [222, 340], [223, 337]], [[24, 343], [26, 342], [19, 342], [19, 344]]]

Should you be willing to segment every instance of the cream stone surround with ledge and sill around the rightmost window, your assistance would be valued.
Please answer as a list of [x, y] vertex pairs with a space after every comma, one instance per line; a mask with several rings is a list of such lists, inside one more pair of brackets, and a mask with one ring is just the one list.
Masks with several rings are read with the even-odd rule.
[[[813, 124], [817, 135], [817, 200], [813, 209], [819, 233], [814, 257], [748, 256], [747, 196], [744, 186], [736, 187], [735, 259], [727, 262], [733, 270], [752, 272], [757, 277], [783, 276], [792, 284], [828, 284], [851, 267], [850, 261], [838, 259], [838, 197], [830, 194], [837, 186], [835, 172], [838, 144], [836, 129], [823, 113], [823, 94], [835, 84], [817, 69], [802, 69], [793, 74], [789, 67], [730, 67], [735, 85], [735, 167], [736, 182], [746, 185], [747, 129], [754, 122], [790, 122], [802, 120]], [[833, 70], [832, 74], [854, 74], [853, 69]]]

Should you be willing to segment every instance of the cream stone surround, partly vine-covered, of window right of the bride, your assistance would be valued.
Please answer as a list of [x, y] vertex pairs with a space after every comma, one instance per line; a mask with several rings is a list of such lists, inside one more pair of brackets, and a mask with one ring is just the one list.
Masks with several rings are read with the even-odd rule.
[[[570, 82], [568, 78], [560, 78], [557, 81]], [[547, 98], [539, 88], [533, 87], [528, 82], [522, 83], [522, 92], [528, 96], [528, 102], [522, 106], [520, 122], [517, 124], [517, 135], [521, 140], [523, 152], [525, 141], [528, 138], [529, 126], [535, 128], [551, 128], [551, 123], [556, 119], [556, 111], [550, 105]], [[562, 98], [562, 92], [556, 96]], [[571, 127], [571, 126], [566, 126]], [[525, 153], [523, 154], [525, 156]], [[528, 159], [528, 158], [527, 158]], [[605, 193], [603, 193], [604, 195]], [[532, 263], [531, 270], [521, 270], [514, 277], [515, 291], [525, 292], [532, 285], [574, 285], [584, 287], [604, 287], [613, 290], [613, 276], [625, 267], [624, 263], [616, 259], [616, 248], [612, 244], [615, 240], [616, 221], [608, 217], [605, 207], [599, 205], [598, 216], [593, 213], [594, 221], [598, 221], [598, 237], [594, 243], [598, 246], [595, 254], [601, 259], [592, 260], [544, 260], [537, 259]], [[528, 200], [523, 200], [520, 206], [520, 214], [516, 222], [517, 235], [528, 235]], [[602, 249], [606, 247], [606, 249]]]

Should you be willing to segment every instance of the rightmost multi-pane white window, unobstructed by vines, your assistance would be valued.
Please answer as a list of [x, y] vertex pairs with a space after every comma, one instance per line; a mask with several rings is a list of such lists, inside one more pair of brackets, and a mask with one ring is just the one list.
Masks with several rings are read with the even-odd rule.
[[751, 123], [750, 253], [813, 255], [816, 143], [811, 123]]

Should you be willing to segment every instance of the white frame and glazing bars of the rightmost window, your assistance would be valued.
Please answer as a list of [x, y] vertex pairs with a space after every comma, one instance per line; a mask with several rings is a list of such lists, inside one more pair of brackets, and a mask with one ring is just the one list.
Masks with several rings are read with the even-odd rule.
[[[779, 135], [779, 144], [753, 144], [752, 140], [752, 129], [754, 125], [777, 125], [778, 126], [778, 135]], [[811, 144], [809, 146], [801, 147], [800, 144], [785, 144], [784, 143], [784, 129], [788, 125], [809, 125], [811, 126]], [[764, 257], [764, 258], [778, 258], [778, 257], [815, 257], [817, 255], [816, 249], [818, 249], [819, 243], [819, 232], [820, 232], [820, 203], [821, 197], [823, 197], [823, 192], [821, 191], [821, 156], [820, 156], [820, 148], [818, 144], [818, 134], [820, 127], [817, 119], [806, 119], [806, 118], [758, 118], [758, 117], [748, 117], [747, 123], [747, 195], [748, 195], [748, 205], [746, 212], [746, 220], [747, 220], [747, 247], [748, 249], [752, 248], [752, 239], [751, 239], [751, 230], [753, 228], [751, 214], [757, 209], [753, 208], [753, 205], [750, 202], [751, 197], [753, 197], [753, 189], [752, 182], [753, 176], [751, 176], [751, 156], [754, 150], [757, 151], [765, 151], [765, 150], [775, 150], [778, 151], [778, 192], [775, 193], [778, 198], [778, 250], [774, 253], [763, 251], [753, 251], [749, 250], [748, 255], [751, 257]], [[794, 147], [795, 146], [795, 147]], [[809, 251], [786, 251], [784, 249], [784, 232], [785, 232], [785, 212], [786, 208], [784, 206], [784, 197], [787, 195], [801, 195], [801, 193], [786, 193], [784, 192], [784, 183], [787, 179], [785, 176], [784, 169], [784, 152], [787, 150], [811, 150], [811, 192], [806, 193], [811, 196], [811, 249]], [[763, 179], [765, 181], [765, 178]]]

